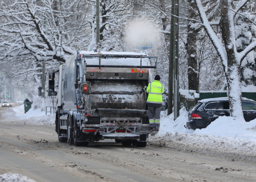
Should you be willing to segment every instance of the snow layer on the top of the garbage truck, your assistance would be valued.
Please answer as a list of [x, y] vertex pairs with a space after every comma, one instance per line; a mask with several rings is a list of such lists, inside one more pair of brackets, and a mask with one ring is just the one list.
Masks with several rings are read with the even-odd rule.
[[[108, 52], [102, 51], [100, 53], [94, 51], [80, 51], [80, 54], [107, 54], [107, 55], [136, 55], [147, 56], [143, 53], [136, 52]], [[85, 57], [85, 61], [88, 65], [99, 65], [98, 57]], [[140, 58], [101, 58], [100, 65], [127, 65], [127, 66], [140, 66]], [[142, 58], [142, 66], [151, 66], [149, 58]]]

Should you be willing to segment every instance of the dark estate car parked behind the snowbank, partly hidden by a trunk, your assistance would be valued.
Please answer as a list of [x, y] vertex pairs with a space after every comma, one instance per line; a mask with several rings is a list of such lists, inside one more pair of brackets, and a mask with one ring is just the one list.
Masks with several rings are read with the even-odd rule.
[[[242, 98], [242, 109], [245, 121], [256, 118], [256, 102], [251, 99]], [[188, 129], [206, 128], [219, 116], [230, 116], [228, 97], [202, 99], [189, 111]]]

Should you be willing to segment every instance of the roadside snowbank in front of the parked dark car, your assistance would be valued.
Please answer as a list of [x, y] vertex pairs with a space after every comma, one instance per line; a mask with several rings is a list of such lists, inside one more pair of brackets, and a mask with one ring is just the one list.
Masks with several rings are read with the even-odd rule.
[[180, 110], [176, 121], [173, 121], [173, 114], [167, 116], [166, 111], [162, 111], [159, 133], [150, 137], [149, 144], [256, 162], [256, 119], [244, 122], [223, 116], [207, 128], [195, 131], [184, 127], [187, 121], [185, 108]]

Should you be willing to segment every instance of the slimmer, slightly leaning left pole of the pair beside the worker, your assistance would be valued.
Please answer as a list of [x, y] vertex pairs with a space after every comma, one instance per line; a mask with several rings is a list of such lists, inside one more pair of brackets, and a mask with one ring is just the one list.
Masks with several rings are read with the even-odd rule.
[[[171, 1], [171, 14], [173, 15], [174, 0]], [[171, 17], [170, 30], [170, 56], [169, 56], [169, 82], [168, 82], [168, 109], [167, 115], [173, 112], [173, 16]]]

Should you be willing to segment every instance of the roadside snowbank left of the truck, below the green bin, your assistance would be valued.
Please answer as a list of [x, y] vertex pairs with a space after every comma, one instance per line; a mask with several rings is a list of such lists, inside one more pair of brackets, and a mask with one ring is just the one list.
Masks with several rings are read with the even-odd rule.
[[24, 122], [28, 124], [55, 124], [54, 114], [45, 115], [45, 111], [41, 111], [41, 109], [33, 109], [33, 105], [25, 114], [23, 104], [6, 109], [0, 119], [3, 121]]

